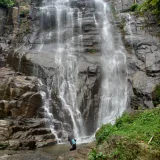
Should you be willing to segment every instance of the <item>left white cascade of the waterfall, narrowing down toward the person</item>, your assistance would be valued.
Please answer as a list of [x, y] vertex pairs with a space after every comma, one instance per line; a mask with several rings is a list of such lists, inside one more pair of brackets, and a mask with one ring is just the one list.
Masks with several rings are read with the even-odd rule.
[[[77, 105], [78, 67], [74, 43], [77, 41], [78, 44], [82, 44], [82, 13], [78, 11], [78, 17], [75, 18], [74, 13], [77, 9], [69, 6], [69, 0], [44, 0], [43, 3], [43, 7], [41, 7], [42, 14], [46, 14], [47, 11], [47, 16], [51, 20], [52, 12], [55, 13], [56, 27], [49, 29], [49, 35], [51, 35], [54, 30], [56, 33], [56, 42], [54, 42], [54, 45], [52, 45], [53, 42], [48, 45], [52, 49], [52, 52], [53, 50], [55, 51], [53, 54], [55, 55], [57, 78], [55, 78], [56, 81], [54, 81], [54, 83], [57, 83], [56, 88], [58, 90], [58, 97], [61, 100], [61, 109], [64, 110], [64, 112], [67, 110], [68, 116], [72, 121], [73, 134], [75, 138], [79, 138], [85, 135], [85, 128], [83, 126], [81, 112]], [[75, 23], [79, 25], [79, 35], [76, 37], [74, 36]], [[43, 44], [40, 45], [38, 51], [45, 52]], [[50, 88], [53, 88], [53, 86]]]

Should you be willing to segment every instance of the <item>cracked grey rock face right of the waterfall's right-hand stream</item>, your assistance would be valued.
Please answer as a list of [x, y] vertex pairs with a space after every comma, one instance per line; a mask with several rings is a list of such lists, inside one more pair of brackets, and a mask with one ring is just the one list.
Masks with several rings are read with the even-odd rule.
[[145, 17], [134, 13], [121, 13], [120, 16], [124, 22], [124, 42], [128, 50], [131, 108], [152, 108], [152, 92], [160, 82], [160, 44], [156, 36], [159, 27], [152, 17], [148, 17], [146, 22]]

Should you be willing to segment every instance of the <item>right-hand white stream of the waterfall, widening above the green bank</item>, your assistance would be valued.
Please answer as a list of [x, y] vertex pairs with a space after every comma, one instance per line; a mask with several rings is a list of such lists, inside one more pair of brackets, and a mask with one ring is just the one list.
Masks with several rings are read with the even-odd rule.
[[110, 8], [103, 0], [95, 0], [96, 12], [102, 18], [102, 92], [99, 108], [98, 127], [114, 123], [127, 105], [126, 57], [122, 46], [113, 38], [113, 25], [110, 22]]

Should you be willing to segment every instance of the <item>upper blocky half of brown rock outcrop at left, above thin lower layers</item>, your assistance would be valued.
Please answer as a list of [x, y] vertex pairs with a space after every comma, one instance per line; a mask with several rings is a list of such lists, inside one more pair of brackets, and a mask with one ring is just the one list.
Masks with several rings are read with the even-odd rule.
[[[7, 73], [8, 72], [8, 73]], [[36, 117], [37, 111], [43, 105], [39, 93], [40, 82], [35, 77], [16, 76], [12, 70], [2, 68], [0, 71], [1, 110], [4, 115], [28, 118]]]

